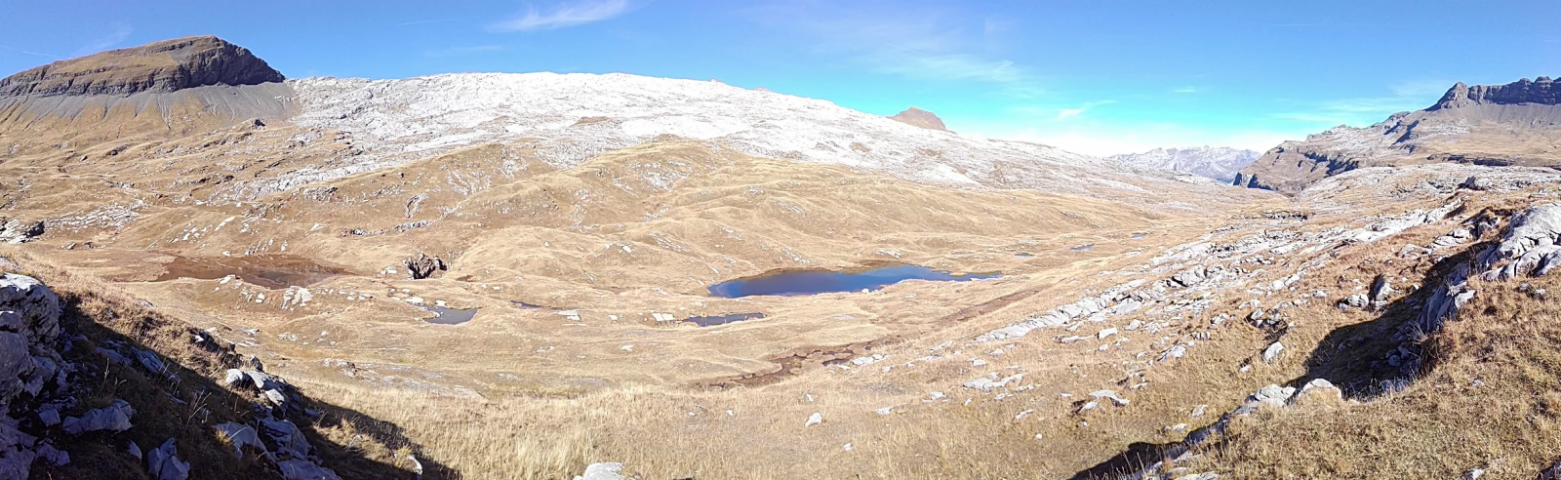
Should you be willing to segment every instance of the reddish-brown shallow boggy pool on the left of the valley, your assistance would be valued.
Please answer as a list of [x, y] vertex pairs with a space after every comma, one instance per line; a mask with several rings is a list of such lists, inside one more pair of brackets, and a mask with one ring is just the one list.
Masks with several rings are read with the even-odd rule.
[[308, 258], [290, 255], [253, 256], [175, 256], [162, 266], [156, 281], [178, 278], [219, 280], [228, 275], [264, 288], [311, 286], [322, 280], [342, 275], [345, 270], [317, 264]]

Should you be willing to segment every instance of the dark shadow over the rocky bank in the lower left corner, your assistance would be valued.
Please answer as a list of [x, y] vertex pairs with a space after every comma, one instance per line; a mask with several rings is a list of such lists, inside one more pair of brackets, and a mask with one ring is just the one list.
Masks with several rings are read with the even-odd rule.
[[[37, 463], [33, 478], [151, 478], [145, 463], [133, 457], [128, 446], [134, 442], [142, 452], [150, 452], [167, 439], [175, 441], [176, 457], [190, 464], [190, 478], [276, 478], [278, 471], [272, 460], [253, 450], [239, 457], [236, 449], [214, 430], [214, 425], [223, 422], [253, 427], [268, 414], [292, 421], [314, 447], [320, 464], [342, 478], [412, 480], [418, 475], [370, 458], [370, 452], [356, 444], [356, 438], [350, 444], [337, 444], [322, 428], [356, 432], [390, 450], [411, 450], [421, 461], [425, 478], [460, 478], [457, 472], [425, 460], [420, 446], [407, 439], [392, 422], [308, 399], [292, 388], [286, 388], [292, 394], [289, 407], [268, 408], [261, 407], [262, 400], [251, 394], [236, 394], [219, 385], [200, 372], [251, 366], [245, 364], [242, 355], [220, 347], [204, 331], [94, 292], [56, 291], [56, 294], [61, 300], [59, 324], [66, 344], [61, 356], [78, 366], [70, 375], [76, 403], [62, 408], [61, 416], [80, 416], [116, 399], [130, 402], [136, 413], [131, 416], [133, 427], [120, 433], [92, 432], [70, 436], [59, 427], [31, 425], [34, 433], [53, 439], [56, 447], [70, 453], [72, 460], [59, 467]], [[206, 335], [206, 339], [197, 341], [198, 335]], [[162, 349], [148, 346], [148, 341], [161, 344]], [[151, 372], [136, 360], [133, 349], [158, 353], [165, 367]], [[128, 358], [128, 364], [120, 363], [114, 353]]]

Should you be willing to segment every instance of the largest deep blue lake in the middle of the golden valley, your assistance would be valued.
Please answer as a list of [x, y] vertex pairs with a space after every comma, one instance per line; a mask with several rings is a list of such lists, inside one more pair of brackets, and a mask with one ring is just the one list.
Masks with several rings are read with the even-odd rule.
[[905, 280], [969, 281], [997, 278], [1002, 274], [952, 274], [923, 266], [887, 266], [862, 272], [788, 270], [723, 281], [710, 286], [710, 294], [724, 299], [748, 296], [812, 296], [827, 292], [876, 291]]

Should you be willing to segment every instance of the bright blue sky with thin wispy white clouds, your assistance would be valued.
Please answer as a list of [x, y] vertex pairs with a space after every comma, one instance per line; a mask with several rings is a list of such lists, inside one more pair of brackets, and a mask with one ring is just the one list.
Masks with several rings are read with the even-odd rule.
[[187, 34], [287, 77], [716, 78], [1085, 153], [1264, 150], [1561, 77], [1561, 2], [0, 0], [0, 75]]

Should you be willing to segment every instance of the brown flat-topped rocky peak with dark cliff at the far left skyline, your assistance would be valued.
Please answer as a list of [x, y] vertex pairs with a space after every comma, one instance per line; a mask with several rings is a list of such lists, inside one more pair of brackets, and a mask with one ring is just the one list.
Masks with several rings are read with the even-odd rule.
[[190, 36], [56, 61], [0, 80], [0, 97], [130, 95], [283, 81], [248, 48]]

